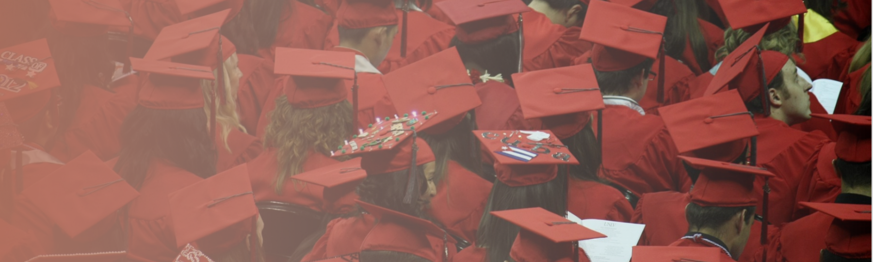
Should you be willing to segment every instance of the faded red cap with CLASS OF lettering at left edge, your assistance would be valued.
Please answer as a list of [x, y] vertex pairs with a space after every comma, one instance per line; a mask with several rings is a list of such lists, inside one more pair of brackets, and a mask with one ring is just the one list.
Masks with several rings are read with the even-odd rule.
[[52, 52], [45, 38], [0, 50], [0, 102], [6, 102], [12, 121], [21, 123], [42, 112], [60, 86]]

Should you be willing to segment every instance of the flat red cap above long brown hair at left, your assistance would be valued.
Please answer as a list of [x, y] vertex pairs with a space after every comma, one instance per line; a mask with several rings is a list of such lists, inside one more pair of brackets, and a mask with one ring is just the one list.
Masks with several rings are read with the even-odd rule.
[[130, 58], [137, 72], [148, 72], [142, 83], [139, 104], [153, 109], [203, 108], [200, 79], [215, 79], [207, 66]]

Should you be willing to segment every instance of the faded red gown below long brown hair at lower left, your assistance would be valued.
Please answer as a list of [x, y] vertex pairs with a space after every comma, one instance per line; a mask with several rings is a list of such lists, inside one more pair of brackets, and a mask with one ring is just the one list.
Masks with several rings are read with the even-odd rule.
[[169, 194], [202, 181], [166, 160], [155, 160], [140, 188], [140, 196], [127, 206], [130, 227], [127, 237], [127, 259], [132, 261], [172, 261], [181, 248], [175, 243]]

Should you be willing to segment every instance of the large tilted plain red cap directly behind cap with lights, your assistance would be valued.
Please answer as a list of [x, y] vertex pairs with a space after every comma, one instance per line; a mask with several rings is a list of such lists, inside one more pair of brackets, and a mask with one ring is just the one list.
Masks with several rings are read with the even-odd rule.
[[421, 131], [443, 134], [482, 104], [454, 47], [403, 66], [384, 77], [396, 112], [439, 112]]

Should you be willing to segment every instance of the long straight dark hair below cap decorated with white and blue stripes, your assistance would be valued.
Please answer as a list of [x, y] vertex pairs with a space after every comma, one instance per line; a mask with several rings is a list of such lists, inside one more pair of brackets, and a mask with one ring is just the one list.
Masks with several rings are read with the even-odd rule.
[[498, 217], [491, 211], [515, 210], [541, 207], [560, 216], [567, 214], [567, 169], [558, 168], [558, 176], [547, 183], [522, 187], [510, 187], [499, 180], [491, 188], [491, 196], [485, 205], [485, 215], [479, 222], [476, 245], [487, 249], [488, 262], [509, 260], [512, 242], [519, 233], [519, 226]]

